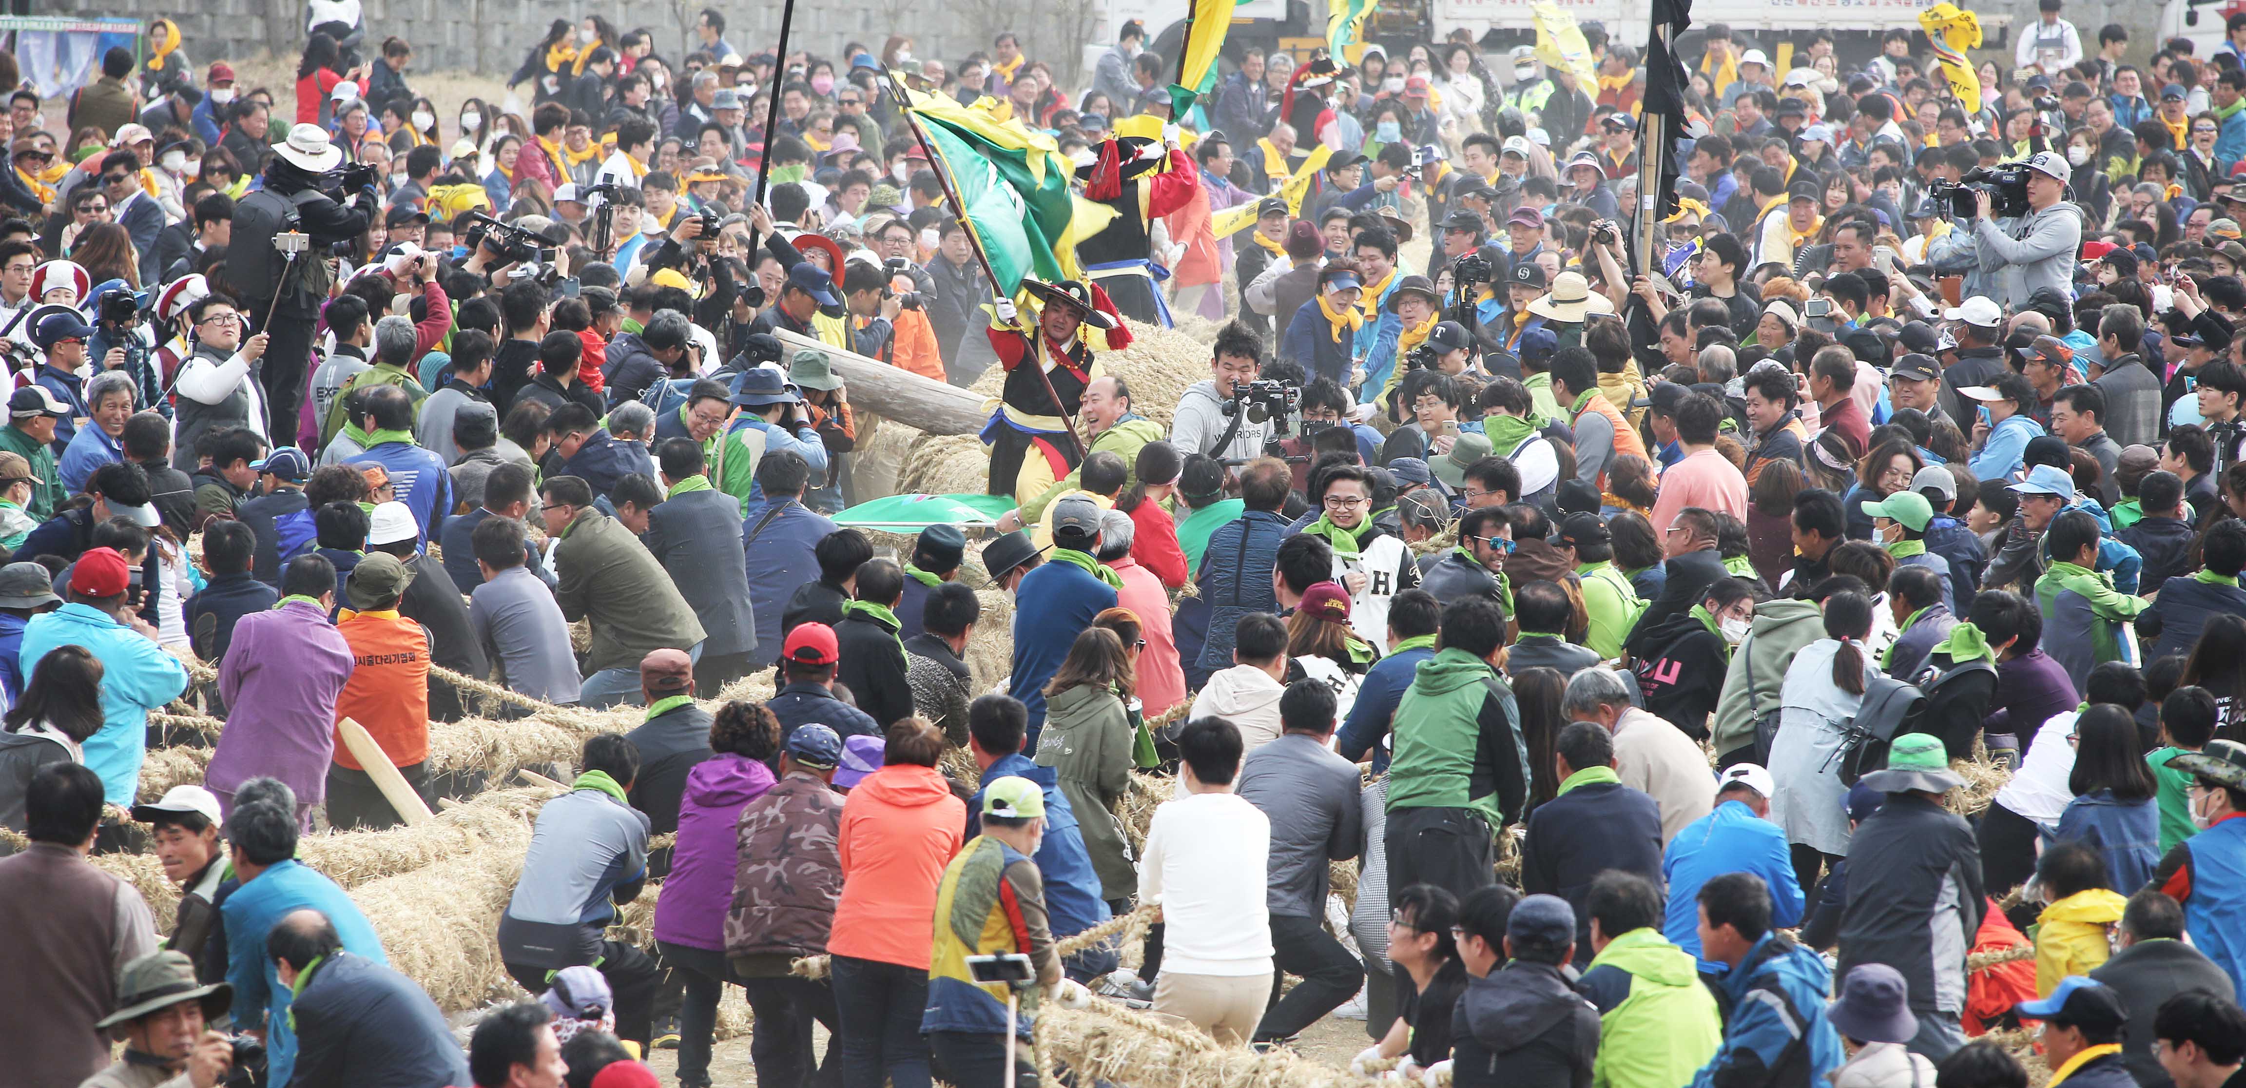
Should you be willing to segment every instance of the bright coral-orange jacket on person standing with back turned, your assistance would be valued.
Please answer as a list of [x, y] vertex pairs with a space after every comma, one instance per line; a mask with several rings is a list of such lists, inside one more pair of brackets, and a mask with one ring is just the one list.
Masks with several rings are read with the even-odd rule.
[[966, 836], [968, 807], [934, 767], [889, 764], [842, 803], [842, 899], [827, 951], [928, 969], [937, 883]]

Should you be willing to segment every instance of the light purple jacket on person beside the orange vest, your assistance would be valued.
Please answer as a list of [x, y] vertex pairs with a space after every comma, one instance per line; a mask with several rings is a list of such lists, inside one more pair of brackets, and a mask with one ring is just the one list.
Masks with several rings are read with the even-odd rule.
[[231, 794], [256, 776], [274, 776], [296, 791], [299, 805], [326, 800], [335, 697], [348, 679], [350, 645], [319, 605], [290, 600], [243, 616], [218, 665], [227, 728], [204, 785]]

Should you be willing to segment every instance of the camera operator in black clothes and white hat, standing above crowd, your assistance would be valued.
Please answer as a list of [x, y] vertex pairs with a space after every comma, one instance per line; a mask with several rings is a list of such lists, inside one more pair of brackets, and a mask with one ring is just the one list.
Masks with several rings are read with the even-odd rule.
[[[341, 164], [344, 148], [330, 144], [323, 128], [299, 124], [265, 164], [265, 189], [234, 207], [227, 272], [243, 292], [243, 308], [272, 333], [263, 364], [265, 434], [296, 434], [312, 319], [335, 281], [332, 247], [357, 241], [382, 214], [371, 171], [350, 166], [335, 175]], [[310, 250], [296, 261], [283, 259], [274, 247], [283, 232], [308, 234]]]

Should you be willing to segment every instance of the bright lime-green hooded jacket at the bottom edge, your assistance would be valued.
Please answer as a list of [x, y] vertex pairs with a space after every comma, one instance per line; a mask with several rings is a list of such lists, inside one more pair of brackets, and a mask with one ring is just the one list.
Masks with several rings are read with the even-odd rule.
[[1691, 1084], [1723, 1043], [1716, 996], [1700, 985], [1691, 953], [1646, 926], [1599, 949], [1590, 971], [1601, 967], [1628, 971], [1631, 991], [1599, 1016], [1599, 1059], [1590, 1068], [1590, 1084], [1595, 1088]]

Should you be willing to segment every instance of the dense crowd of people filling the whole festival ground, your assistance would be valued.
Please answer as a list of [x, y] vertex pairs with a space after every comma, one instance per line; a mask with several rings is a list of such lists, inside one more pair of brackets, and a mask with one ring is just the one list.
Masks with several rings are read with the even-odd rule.
[[[584, 16], [447, 112], [371, 29], [274, 90], [159, 20], [0, 121], [11, 1084], [701, 1088], [739, 987], [791, 1088], [1035, 1084], [1089, 1003], [1431, 1088], [2026, 1088], [2019, 1027], [2246, 1086], [2246, 13], [1693, 27], [1662, 223], [1597, 25], [1188, 108], [1139, 22], [1078, 79]], [[946, 99], [1076, 166], [1085, 279], [993, 290]], [[993, 364], [1013, 510], [838, 526], [844, 373]], [[456, 677], [642, 715], [548, 767], [465, 1045], [299, 861], [492, 785]]]

